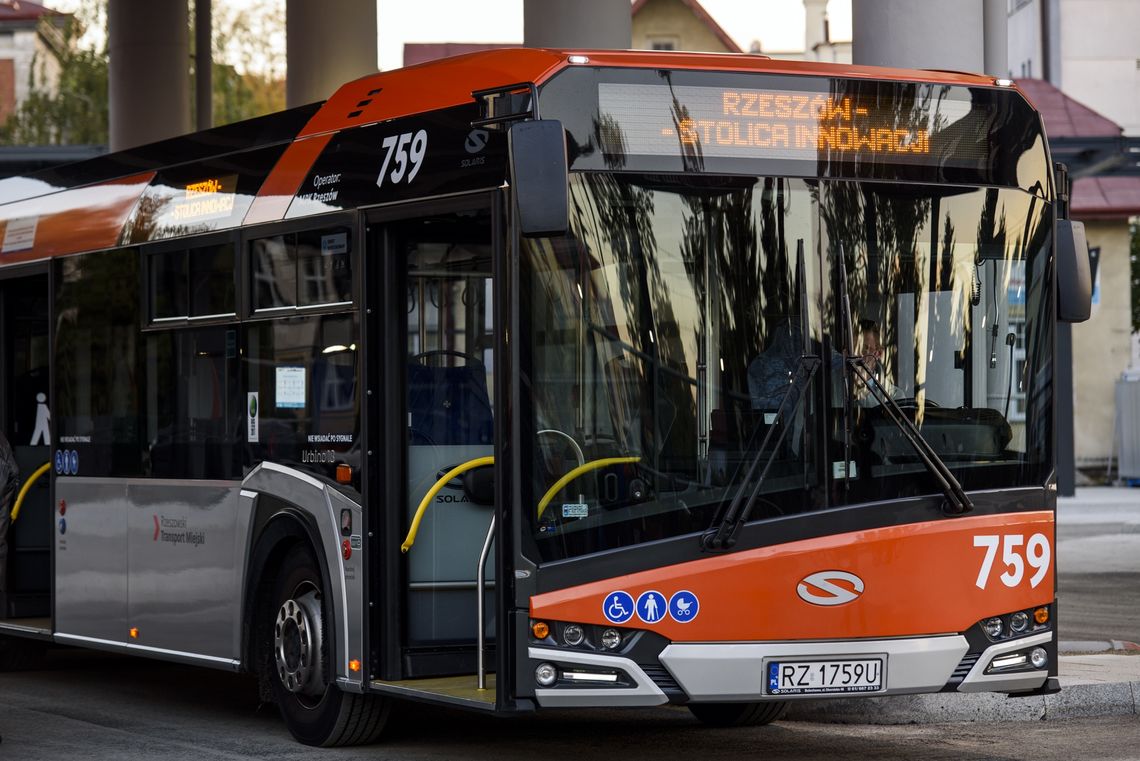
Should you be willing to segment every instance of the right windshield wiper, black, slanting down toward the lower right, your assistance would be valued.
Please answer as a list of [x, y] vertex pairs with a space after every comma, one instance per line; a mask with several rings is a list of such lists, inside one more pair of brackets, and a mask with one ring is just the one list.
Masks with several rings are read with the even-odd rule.
[[[938, 457], [938, 452], [934, 450], [922, 434], [915, 427], [914, 423], [911, 422], [906, 412], [902, 410], [890, 394], [883, 392], [882, 387], [874, 379], [871, 370], [866, 367], [863, 358], [855, 352], [855, 333], [852, 324], [852, 305], [850, 298], [847, 292], [847, 260], [844, 256], [842, 246], [839, 247], [839, 319], [842, 320], [840, 326], [844, 332], [844, 341], [847, 344], [844, 349], [847, 352], [847, 360], [844, 366], [847, 368], [850, 375], [857, 375], [863, 384], [868, 387], [871, 394], [874, 396], [879, 406], [887, 411], [887, 417], [895, 427], [903, 434], [906, 442], [918, 452], [919, 459], [926, 465], [927, 470], [935, 477], [938, 484], [942, 486], [943, 494], [946, 496], [946, 501], [943, 502], [943, 513], [947, 515], [963, 515], [974, 509], [974, 502], [970, 501], [969, 496], [967, 496], [966, 490], [962, 485], [958, 483], [958, 478], [954, 474], [950, 472], [946, 464], [942, 461]], [[849, 385], [849, 384], [848, 384]], [[850, 399], [850, 388], [848, 388], [848, 400]], [[848, 410], [850, 406], [848, 404]], [[848, 418], [850, 414], [848, 412]], [[845, 424], [845, 428], [849, 431], [849, 425]], [[845, 442], [845, 448], [847, 443]], [[846, 453], [845, 453], [846, 457]], [[849, 460], [848, 460], [849, 463]], [[849, 465], [845, 464], [844, 472], [849, 469]]]

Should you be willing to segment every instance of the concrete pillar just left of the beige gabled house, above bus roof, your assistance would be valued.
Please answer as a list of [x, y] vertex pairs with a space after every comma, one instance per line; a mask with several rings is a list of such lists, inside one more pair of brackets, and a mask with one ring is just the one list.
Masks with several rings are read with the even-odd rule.
[[523, 0], [528, 48], [626, 50], [633, 44], [629, 0]]

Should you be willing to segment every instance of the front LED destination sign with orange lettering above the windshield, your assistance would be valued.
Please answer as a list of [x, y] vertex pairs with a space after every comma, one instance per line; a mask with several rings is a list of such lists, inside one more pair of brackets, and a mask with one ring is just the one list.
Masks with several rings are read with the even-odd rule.
[[602, 83], [598, 109], [606, 149], [620, 145], [629, 154], [699, 149], [707, 158], [922, 163], [930, 161], [936, 132], [966, 118], [971, 106], [947, 99], [928, 108], [806, 90]]

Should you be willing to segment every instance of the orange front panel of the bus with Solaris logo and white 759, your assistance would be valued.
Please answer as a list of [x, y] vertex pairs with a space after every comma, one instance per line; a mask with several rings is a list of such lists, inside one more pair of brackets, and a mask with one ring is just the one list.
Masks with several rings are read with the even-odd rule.
[[[687, 622], [670, 615], [653, 624], [635, 615], [622, 625], [650, 629], [674, 641], [750, 641], [906, 637], [959, 632], [977, 621], [1053, 602], [1053, 566], [1032, 583], [1025, 546], [1042, 534], [1054, 551], [1053, 514], [1048, 510], [947, 518], [742, 550], [592, 582], [531, 598], [531, 617], [608, 625], [603, 604], [614, 591], [633, 599], [656, 590], [668, 600], [686, 590], [700, 602]], [[975, 537], [1023, 538], [1017, 553], [1025, 572], [1016, 586], [999, 549], [979, 588], [986, 557]], [[1044, 565], [1042, 563], [1041, 565]], [[842, 571], [864, 589], [853, 602], [817, 605], [797, 587], [808, 575]], [[1011, 576], [1012, 578], [1012, 576]], [[840, 587], [854, 584], [839, 581]], [[808, 588], [813, 591], [812, 588]], [[814, 589], [819, 592], [819, 589]], [[824, 595], [825, 596], [825, 595]]]

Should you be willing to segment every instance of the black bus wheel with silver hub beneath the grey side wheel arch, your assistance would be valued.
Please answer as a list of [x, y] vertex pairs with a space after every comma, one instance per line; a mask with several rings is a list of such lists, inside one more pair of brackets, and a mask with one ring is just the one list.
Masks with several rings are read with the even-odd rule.
[[356, 695], [332, 684], [320, 571], [307, 547], [290, 550], [274, 586], [267, 658], [269, 682], [285, 726], [306, 745], [374, 742], [388, 720], [389, 702]]

